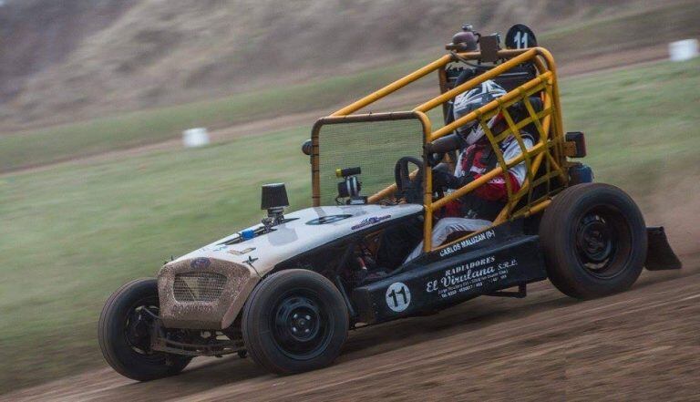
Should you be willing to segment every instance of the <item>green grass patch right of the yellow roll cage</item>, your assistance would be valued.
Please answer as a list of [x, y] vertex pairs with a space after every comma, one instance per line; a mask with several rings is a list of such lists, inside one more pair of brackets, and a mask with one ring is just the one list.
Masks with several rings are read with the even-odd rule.
[[698, 60], [564, 81], [564, 129], [586, 132], [597, 179], [642, 196], [674, 169], [700, 169], [699, 87]]

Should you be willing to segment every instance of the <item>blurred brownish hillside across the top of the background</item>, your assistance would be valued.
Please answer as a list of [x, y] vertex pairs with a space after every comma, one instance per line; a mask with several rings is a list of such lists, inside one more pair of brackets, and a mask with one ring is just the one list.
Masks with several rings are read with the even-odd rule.
[[[687, 10], [700, 8], [697, 4], [10, 0], [0, 8], [0, 124], [7, 131], [345, 74], [438, 53], [436, 45], [448, 42], [464, 22], [483, 32], [523, 22], [566, 36], [572, 26], [589, 21], [678, 8], [669, 20], [676, 24], [659, 21], [670, 35], [650, 35], [654, 42], [696, 30], [696, 24], [677, 22]], [[578, 44], [585, 46], [587, 38], [582, 39]]]

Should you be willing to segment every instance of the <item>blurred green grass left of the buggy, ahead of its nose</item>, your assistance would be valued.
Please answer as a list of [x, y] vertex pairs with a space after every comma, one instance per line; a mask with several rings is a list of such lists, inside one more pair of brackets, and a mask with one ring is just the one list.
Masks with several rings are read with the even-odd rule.
[[[129, 278], [260, 217], [260, 184], [308, 200], [308, 129], [5, 177], [0, 389], [94, 365], [99, 305]], [[40, 347], [41, 349], [36, 349]]]

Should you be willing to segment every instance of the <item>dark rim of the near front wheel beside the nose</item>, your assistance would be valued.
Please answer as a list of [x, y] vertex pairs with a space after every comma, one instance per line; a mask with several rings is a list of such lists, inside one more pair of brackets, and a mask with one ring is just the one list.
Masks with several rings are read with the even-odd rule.
[[317, 294], [294, 291], [278, 299], [273, 309], [273, 338], [279, 350], [295, 360], [322, 354], [330, 342], [331, 314]]

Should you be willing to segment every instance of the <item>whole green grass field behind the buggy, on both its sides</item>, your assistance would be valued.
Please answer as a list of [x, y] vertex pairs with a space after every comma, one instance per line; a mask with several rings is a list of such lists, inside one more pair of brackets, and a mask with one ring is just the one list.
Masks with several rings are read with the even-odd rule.
[[[561, 87], [565, 129], [586, 132], [598, 180], [642, 195], [674, 168], [697, 166], [700, 61]], [[152, 276], [170, 255], [256, 222], [263, 182], [284, 181], [294, 209], [309, 205], [299, 152], [308, 133], [0, 179], [0, 392], [103, 365], [96, 323], [108, 294]]]

